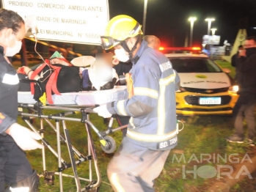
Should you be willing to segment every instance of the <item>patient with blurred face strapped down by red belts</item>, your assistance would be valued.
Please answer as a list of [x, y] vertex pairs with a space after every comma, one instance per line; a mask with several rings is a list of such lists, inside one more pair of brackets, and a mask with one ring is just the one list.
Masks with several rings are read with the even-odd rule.
[[115, 70], [103, 58], [95, 61], [92, 56], [81, 56], [71, 62], [56, 57], [45, 59], [44, 64], [32, 68], [23, 66], [17, 73], [20, 79], [36, 80], [40, 85], [29, 81], [20, 84], [19, 91], [31, 91], [34, 100], [38, 100], [43, 92], [50, 97], [65, 92], [113, 89], [119, 80]]

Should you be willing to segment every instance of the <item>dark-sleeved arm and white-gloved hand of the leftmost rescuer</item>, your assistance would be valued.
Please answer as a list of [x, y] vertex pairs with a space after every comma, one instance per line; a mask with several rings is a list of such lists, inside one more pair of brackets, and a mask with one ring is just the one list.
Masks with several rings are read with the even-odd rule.
[[[1, 64], [0, 64], [1, 67]], [[8, 78], [12, 74], [12, 79]], [[15, 75], [13, 75], [15, 74]], [[15, 81], [15, 76], [17, 81]], [[5, 79], [7, 78], [7, 79]], [[14, 80], [14, 81], [12, 81]], [[12, 81], [12, 82], [10, 82]], [[13, 87], [13, 88], [12, 88]], [[40, 139], [40, 135], [24, 128], [16, 123], [16, 115], [13, 110], [18, 110], [17, 99], [18, 92], [18, 75], [15, 70], [10, 70], [7, 73], [7, 67], [0, 68], [0, 133], [7, 133], [12, 136], [12, 139], [23, 150], [31, 150], [42, 148], [43, 146], [35, 139]], [[10, 99], [11, 98], [11, 99]], [[11, 108], [11, 110], [9, 110]], [[15, 109], [16, 108], [16, 109]], [[13, 110], [12, 110], [13, 109]]]

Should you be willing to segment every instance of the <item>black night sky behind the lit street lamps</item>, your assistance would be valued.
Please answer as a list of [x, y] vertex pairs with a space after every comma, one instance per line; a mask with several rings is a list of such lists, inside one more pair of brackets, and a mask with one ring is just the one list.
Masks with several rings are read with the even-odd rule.
[[[125, 14], [143, 23], [144, 0], [109, 0], [109, 17]], [[194, 23], [193, 44], [201, 45], [207, 34], [205, 18], [215, 18], [211, 28], [224, 40], [235, 41], [239, 28], [248, 35], [256, 35], [256, 0], [148, 0], [145, 34], [154, 34], [164, 46], [184, 46], [190, 32], [188, 18], [197, 17]]]

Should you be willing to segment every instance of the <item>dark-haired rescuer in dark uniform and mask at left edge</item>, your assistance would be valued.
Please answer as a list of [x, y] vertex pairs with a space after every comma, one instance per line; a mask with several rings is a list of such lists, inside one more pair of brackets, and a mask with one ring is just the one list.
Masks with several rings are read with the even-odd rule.
[[20, 191], [37, 191], [39, 177], [32, 169], [23, 150], [42, 148], [40, 139], [31, 130], [17, 123], [19, 80], [7, 56], [21, 50], [26, 30], [20, 15], [0, 10], [0, 191], [7, 185]]

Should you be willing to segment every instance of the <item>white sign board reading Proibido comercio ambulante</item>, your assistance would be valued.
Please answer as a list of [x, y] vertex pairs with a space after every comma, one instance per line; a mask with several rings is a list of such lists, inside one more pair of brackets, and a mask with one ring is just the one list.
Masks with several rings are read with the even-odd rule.
[[109, 22], [108, 0], [2, 0], [24, 19], [34, 15], [40, 40], [100, 45]]

